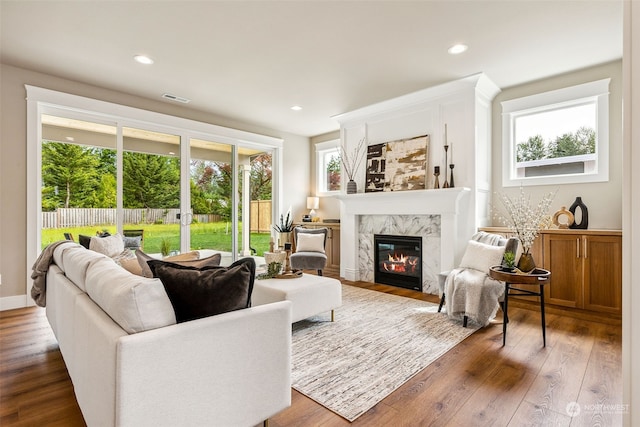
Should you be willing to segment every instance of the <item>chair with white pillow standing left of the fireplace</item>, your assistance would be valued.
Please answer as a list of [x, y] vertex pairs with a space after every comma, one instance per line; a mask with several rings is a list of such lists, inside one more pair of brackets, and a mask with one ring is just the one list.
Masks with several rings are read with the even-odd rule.
[[293, 238], [296, 251], [291, 254], [289, 260], [294, 270], [317, 270], [318, 276], [322, 276], [322, 270], [327, 265], [327, 228], [293, 229]]

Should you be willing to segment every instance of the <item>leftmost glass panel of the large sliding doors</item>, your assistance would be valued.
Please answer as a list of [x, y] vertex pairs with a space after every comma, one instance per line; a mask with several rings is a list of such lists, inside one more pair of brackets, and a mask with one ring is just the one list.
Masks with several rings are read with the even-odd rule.
[[115, 233], [116, 125], [49, 114], [41, 122], [41, 247]]

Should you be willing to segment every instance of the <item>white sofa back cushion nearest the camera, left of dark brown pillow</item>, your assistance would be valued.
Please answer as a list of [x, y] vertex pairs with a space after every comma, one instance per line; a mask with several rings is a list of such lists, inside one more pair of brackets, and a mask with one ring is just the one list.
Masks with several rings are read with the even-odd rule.
[[176, 323], [160, 280], [131, 274], [110, 258], [91, 263], [86, 288], [89, 297], [127, 333]]

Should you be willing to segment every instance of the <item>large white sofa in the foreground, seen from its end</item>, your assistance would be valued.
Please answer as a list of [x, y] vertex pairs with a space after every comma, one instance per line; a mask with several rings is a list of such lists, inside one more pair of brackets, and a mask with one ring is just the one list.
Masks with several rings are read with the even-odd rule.
[[46, 313], [89, 426], [254, 426], [291, 404], [291, 303], [175, 323], [159, 279], [59, 245]]

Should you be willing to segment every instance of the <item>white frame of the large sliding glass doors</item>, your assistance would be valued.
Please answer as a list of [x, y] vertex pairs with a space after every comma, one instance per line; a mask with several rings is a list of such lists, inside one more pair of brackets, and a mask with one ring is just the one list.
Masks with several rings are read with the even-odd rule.
[[[51, 89], [25, 85], [27, 91], [27, 258], [25, 272], [31, 271], [33, 261], [38, 257], [41, 250], [40, 230], [42, 228], [42, 114], [54, 114], [71, 116], [79, 119], [88, 119], [95, 122], [107, 122], [114, 124], [119, 129], [124, 126], [140, 127], [157, 132], [167, 132], [180, 135], [183, 141], [188, 141], [190, 137], [208, 138], [232, 146], [232, 156], [234, 164], [237, 165], [238, 146], [264, 147], [265, 150], [272, 150], [272, 222], [277, 221], [277, 212], [281, 212], [282, 204], [282, 171], [283, 171], [283, 147], [284, 141], [281, 138], [260, 135], [238, 129], [227, 128], [182, 117], [171, 116], [135, 107], [114, 104]], [[122, 147], [122, 132], [118, 131], [117, 142], [118, 151]], [[188, 175], [189, 147], [188, 144], [181, 144], [181, 159], [183, 164], [183, 174]], [[121, 163], [121, 161], [119, 161]], [[234, 174], [237, 179], [237, 174]], [[117, 178], [118, 185], [122, 186], [121, 177]], [[183, 185], [188, 186], [189, 184]], [[237, 194], [237, 182], [234, 182], [233, 194]], [[188, 187], [182, 189], [182, 206], [189, 206]], [[237, 200], [234, 204], [234, 220], [232, 233], [232, 253], [235, 257], [238, 253], [237, 242]], [[119, 203], [121, 208], [121, 203]], [[184, 243], [184, 242], [183, 242]], [[188, 243], [188, 242], [187, 242]], [[29, 273], [30, 274], [30, 273]], [[27, 280], [26, 294], [29, 294], [29, 283]], [[35, 304], [33, 301], [29, 305]]]

